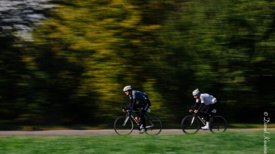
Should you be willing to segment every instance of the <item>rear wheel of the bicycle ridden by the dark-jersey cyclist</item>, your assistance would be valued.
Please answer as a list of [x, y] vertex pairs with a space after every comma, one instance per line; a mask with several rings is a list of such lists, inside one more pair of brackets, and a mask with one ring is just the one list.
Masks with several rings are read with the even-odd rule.
[[145, 132], [148, 135], [157, 135], [162, 130], [162, 123], [161, 120], [156, 116], [149, 116], [146, 119], [146, 128], [147, 131]]

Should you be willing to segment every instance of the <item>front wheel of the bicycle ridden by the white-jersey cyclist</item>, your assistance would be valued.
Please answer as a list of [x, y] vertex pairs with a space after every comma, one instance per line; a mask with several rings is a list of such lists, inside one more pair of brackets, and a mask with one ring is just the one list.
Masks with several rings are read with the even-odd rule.
[[200, 129], [200, 121], [193, 115], [187, 115], [181, 121], [181, 129], [185, 134], [196, 134]]

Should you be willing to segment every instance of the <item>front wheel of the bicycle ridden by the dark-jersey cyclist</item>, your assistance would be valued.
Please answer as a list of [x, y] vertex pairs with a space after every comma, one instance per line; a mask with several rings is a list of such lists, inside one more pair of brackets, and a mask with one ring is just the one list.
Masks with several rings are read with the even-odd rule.
[[122, 115], [116, 119], [114, 129], [118, 135], [129, 135], [133, 131], [133, 122], [130, 117]]

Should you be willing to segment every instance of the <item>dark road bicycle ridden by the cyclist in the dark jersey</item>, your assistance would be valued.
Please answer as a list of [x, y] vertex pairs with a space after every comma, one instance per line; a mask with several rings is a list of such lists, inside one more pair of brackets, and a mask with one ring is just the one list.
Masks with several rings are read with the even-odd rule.
[[[121, 109], [124, 109], [124, 107], [121, 107]], [[148, 108], [147, 112], [150, 112], [151, 109]], [[134, 111], [132, 112], [139, 112]], [[148, 135], [157, 135], [162, 130], [162, 123], [161, 120], [154, 116], [154, 115], [147, 115], [145, 114], [145, 120], [146, 120], [146, 128], [147, 131], [145, 131]], [[115, 131], [118, 135], [129, 135], [133, 131], [134, 123], [137, 125], [137, 129], [141, 131], [142, 123], [139, 120], [136, 120], [132, 113], [126, 113], [126, 115], [121, 115], [118, 117], [114, 123]]]

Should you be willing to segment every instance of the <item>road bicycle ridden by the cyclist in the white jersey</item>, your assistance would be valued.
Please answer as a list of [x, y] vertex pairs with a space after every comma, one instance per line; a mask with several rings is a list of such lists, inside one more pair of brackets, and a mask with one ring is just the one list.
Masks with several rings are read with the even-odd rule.
[[[194, 110], [193, 106], [187, 106], [187, 110]], [[215, 115], [216, 109], [213, 109], [210, 114], [210, 127], [212, 133], [224, 133], [227, 129], [227, 121], [219, 115]], [[200, 124], [206, 125], [205, 121], [195, 112], [192, 115], [187, 115], [182, 119], [181, 129], [185, 134], [196, 134], [201, 128]]]

